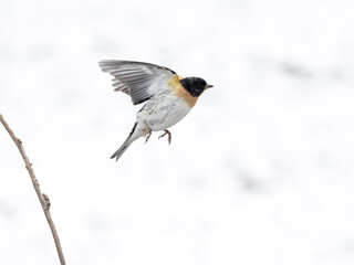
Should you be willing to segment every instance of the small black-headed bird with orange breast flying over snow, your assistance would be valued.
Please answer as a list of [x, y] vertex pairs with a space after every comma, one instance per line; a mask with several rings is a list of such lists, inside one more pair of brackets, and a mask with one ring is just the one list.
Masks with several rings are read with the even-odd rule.
[[148, 141], [153, 131], [164, 130], [158, 138], [171, 134], [169, 127], [181, 120], [196, 105], [199, 96], [212, 85], [200, 77], [180, 77], [170, 68], [156, 64], [103, 60], [98, 62], [103, 72], [114, 76], [113, 87], [131, 96], [134, 105], [145, 103], [136, 114], [133, 129], [111, 159], [116, 161], [138, 138]]

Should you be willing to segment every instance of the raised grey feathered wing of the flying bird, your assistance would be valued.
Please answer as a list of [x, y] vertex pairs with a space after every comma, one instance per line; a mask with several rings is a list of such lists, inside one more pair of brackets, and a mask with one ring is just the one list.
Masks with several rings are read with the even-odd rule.
[[114, 76], [114, 91], [131, 95], [134, 105], [168, 89], [164, 84], [176, 75], [174, 71], [164, 66], [132, 61], [104, 60], [100, 62], [100, 66], [103, 72]]

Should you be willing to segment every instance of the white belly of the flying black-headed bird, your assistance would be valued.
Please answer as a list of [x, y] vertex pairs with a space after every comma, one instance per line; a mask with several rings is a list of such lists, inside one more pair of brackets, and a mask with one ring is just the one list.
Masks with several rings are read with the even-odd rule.
[[148, 100], [137, 114], [137, 121], [146, 121], [152, 130], [167, 129], [190, 110], [188, 104], [175, 95], [163, 95]]

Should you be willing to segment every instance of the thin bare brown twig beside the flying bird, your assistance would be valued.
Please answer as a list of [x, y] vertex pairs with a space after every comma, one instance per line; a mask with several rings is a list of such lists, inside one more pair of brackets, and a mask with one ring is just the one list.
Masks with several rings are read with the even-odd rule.
[[6, 130], [9, 132], [9, 135], [11, 136], [12, 140], [14, 141], [15, 146], [19, 148], [19, 151], [23, 158], [23, 161], [25, 163], [25, 168], [27, 170], [29, 171], [30, 173], [30, 177], [31, 177], [31, 180], [32, 180], [32, 184], [33, 184], [33, 188], [35, 190], [35, 193], [38, 195], [38, 199], [40, 200], [41, 202], [41, 205], [42, 205], [42, 209], [44, 211], [44, 215], [46, 218], [46, 221], [49, 223], [49, 226], [52, 231], [52, 234], [53, 234], [53, 239], [54, 239], [54, 242], [55, 242], [55, 246], [56, 246], [56, 252], [58, 252], [58, 255], [59, 255], [59, 259], [60, 259], [60, 263], [61, 265], [65, 265], [65, 259], [64, 259], [64, 255], [63, 255], [63, 251], [62, 251], [62, 246], [60, 244], [60, 240], [59, 240], [59, 236], [58, 236], [58, 233], [56, 233], [56, 230], [55, 230], [55, 225], [53, 223], [53, 220], [52, 220], [52, 216], [51, 216], [51, 213], [49, 211], [50, 206], [51, 206], [51, 202], [49, 200], [49, 197], [44, 193], [41, 192], [41, 189], [40, 189], [40, 184], [38, 182], [38, 179], [35, 178], [35, 174], [34, 174], [34, 171], [33, 171], [33, 168], [32, 168], [32, 163], [30, 162], [30, 159], [28, 158], [28, 156], [25, 155], [25, 151], [23, 149], [23, 146], [22, 146], [22, 142], [19, 138], [15, 137], [15, 135], [13, 134], [13, 131], [10, 129], [8, 123], [4, 120], [4, 118], [2, 117], [2, 115], [0, 114], [0, 121], [1, 124], [3, 125], [3, 127], [6, 128]]

